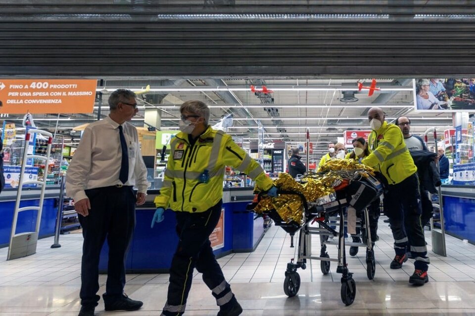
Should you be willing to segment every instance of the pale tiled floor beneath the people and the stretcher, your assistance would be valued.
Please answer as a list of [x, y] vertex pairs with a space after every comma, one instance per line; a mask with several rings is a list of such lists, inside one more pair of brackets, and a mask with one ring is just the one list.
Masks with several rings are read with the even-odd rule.
[[[324, 276], [319, 261], [299, 269], [302, 284], [297, 296], [284, 294], [287, 262], [296, 248], [278, 227], [271, 227], [252, 253], [231, 254], [219, 259], [246, 316], [296, 315], [475, 315], [475, 246], [447, 236], [447, 257], [430, 251], [431, 233], [426, 232], [431, 265], [430, 281], [422, 287], [408, 284], [414, 270], [411, 260], [401, 270], [390, 270], [393, 258], [392, 236], [380, 219], [380, 240], [376, 243], [376, 276], [366, 276], [365, 249], [356, 257], [348, 256], [354, 273], [355, 302], [345, 307], [340, 300], [340, 275]], [[314, 254], [320, 245], [312, 243]], [[52, 238], [39, 241], [35, 255], [5, 261], [7, 248], [0, 249], [0, 315], [77, 315], [80, 287], [81, 234], [62, 235], [61, 248], [51, 249]], [[329, 246], [334, 257], [336, 246]], [[105, 276], [100, 276], [101, 289]], [[166, 300], [168, 275], [128, 275], [126, 292], [144, 302], [137, 312], [104, 312], [102, 301], [96, 315], [159, 315]], [[216, 315], [210, 290], [196, 273], [185, 315]]]

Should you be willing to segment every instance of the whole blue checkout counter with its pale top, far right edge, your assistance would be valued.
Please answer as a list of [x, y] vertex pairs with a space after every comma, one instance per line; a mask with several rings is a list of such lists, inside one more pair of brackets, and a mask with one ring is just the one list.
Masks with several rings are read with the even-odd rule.
[[442, 185], [445, 234], [475, 244], [475, 186]]

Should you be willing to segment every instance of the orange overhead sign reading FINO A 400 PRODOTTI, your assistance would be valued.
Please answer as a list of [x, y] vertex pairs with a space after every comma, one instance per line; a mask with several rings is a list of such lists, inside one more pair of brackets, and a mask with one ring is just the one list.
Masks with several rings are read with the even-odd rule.
[[96, 79], [0, 79], [2, 112], [93, 113]]

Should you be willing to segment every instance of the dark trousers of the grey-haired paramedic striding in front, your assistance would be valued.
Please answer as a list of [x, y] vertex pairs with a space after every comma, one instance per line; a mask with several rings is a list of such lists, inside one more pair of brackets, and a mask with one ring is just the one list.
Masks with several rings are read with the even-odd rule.
[[202, 213], [176, 212], [177, 234], [180, 238], [170, 268], [170, 284], [165, 316], [179, 316], [185, 312], [193, 270], [203, 274], [203, 281], [212, 290], [220, 309], [236, 301], [211, 248], [209, 235], [218, 224], [222, 201]]

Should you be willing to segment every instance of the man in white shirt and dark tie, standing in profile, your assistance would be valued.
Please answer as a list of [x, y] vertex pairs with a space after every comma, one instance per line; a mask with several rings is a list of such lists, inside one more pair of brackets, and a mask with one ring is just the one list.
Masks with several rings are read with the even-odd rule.
[[109, 116], [86, 127], [68, 168], [66, 193], [75, 201], [84, 237], [79, 316], [94, 316], [100, 299], [96, 294], [98, 265], [106, 237], [105, 310], [135, 311], [142, 307], [142, 302], [124, 294], [125, 258], [135, 228], [135, 205], [145, 202], [148, 187], [137, 129], [128, 122], [138, 112], [135, 98], [131, 90], [112, 92]]

